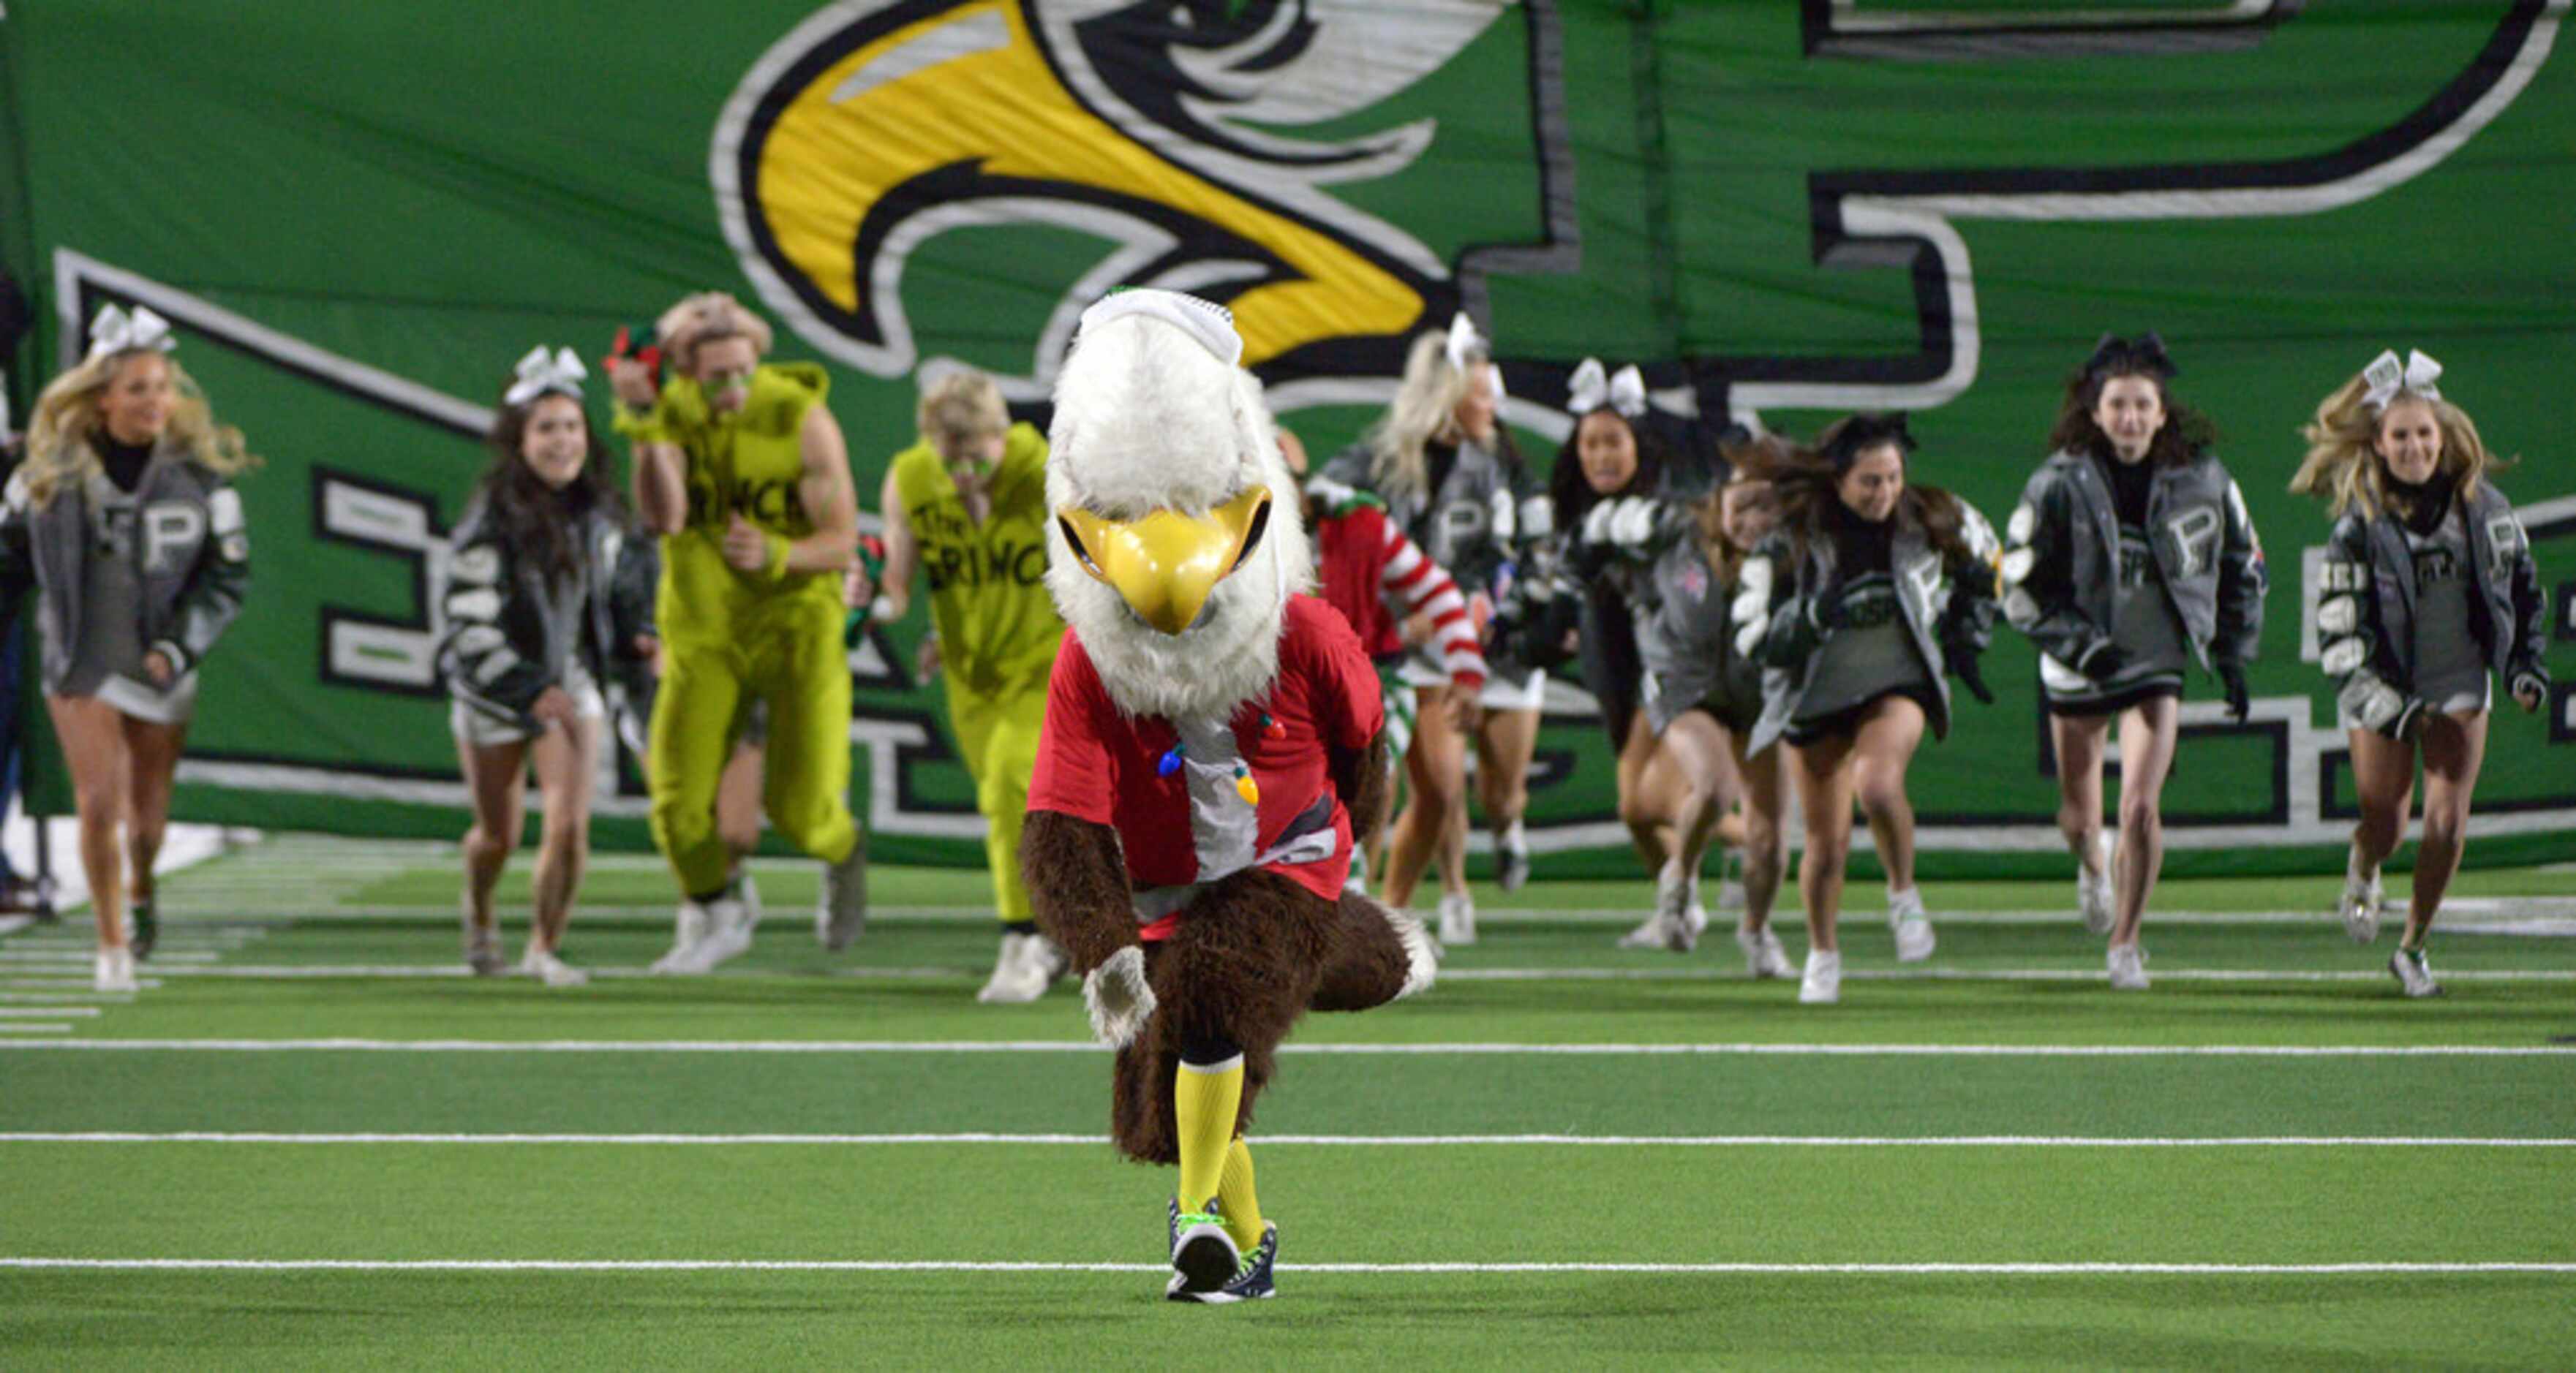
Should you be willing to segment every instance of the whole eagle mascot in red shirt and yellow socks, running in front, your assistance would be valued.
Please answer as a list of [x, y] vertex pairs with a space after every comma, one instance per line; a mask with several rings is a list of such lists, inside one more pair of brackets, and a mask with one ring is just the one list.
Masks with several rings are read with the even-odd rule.
[[1386, 819], [1386, 706], [1306, 595], [1296, 479], [1234, 317], [1175, 291], [1082, 314], [1048, 433], [1046, 585], [1069, 634], [1020, 863], [1118, 1048], [1110, 1133], [1180, 1164], [1175, 1301], [1273, 1296], [1242, 1131], [1306, 1010], [1432, 979], [1412, 917], [1345, 891]]

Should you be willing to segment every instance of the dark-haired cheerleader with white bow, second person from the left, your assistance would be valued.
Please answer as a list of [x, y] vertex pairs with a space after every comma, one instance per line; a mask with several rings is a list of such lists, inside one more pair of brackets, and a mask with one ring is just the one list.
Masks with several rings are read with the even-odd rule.
[[611, 595], [626, 502], [608, 446], [582, 415], [582, 361], [531, 350], [492, 422], [492, 466], [448, 536], [438, 670], [448, 683], [456, 757], [474, 804], [464, 837], [464, 940], [474, 976], [500, 976], [492, 886], [518, 847], [528, 770], [546, 824], [536, 912], [518, 969], [546, 987], [590, 974], [564, 963], [564, 925], [590, 860], [590, 786], [616, 659]]

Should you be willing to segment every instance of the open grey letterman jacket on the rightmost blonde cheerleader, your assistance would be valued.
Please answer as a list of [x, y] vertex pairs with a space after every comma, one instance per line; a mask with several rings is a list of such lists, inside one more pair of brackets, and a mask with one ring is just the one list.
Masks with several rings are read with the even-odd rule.
[[[2532, 538], [2496, 487], [2478, 482], [2460, 502], [2476, 587], [2468, 629], [2509, 688], [2537, 685], [2548, 693]], [[2424, 714], [2424, 698], [2414, 693], [2414, 554], [2403, 526], [2388, 513], [2365, 518], [2360, 510], [2334, 520], [2316, 600], [2318, 665], [2339, 683], [2336, 696], [2352, 719], [2391, 739], [2406, 737]]]

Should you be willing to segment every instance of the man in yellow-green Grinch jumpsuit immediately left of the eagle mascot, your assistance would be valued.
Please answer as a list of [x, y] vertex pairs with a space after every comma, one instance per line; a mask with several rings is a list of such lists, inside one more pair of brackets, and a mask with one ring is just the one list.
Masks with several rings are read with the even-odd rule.
[[981, 371], [951, 371], [922, 392], [922, 440], [886, 466], [878, 510], [886, 572], [873, 587], [850, 569], [850, 598], [878, 623], [912, 608], [930, 572], [930, 634], [920, 672], [948, 683], [948, 724], [984, 814], [984, 860], [1002, 951], [979, 1002], [1033, 1002], [1064, 976], [1064, 951], [1038, 933], [1020, 881], [1020, 817], [1038, 768], [1046, 683], [1064, 618], [1046, 595], [1046, 435], [1012, 425], [1002, 389]]

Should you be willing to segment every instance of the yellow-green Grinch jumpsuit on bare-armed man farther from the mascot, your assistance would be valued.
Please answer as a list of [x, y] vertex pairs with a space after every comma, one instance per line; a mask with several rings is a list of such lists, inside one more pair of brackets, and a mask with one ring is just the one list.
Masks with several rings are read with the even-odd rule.
[[[724, 889], [732, 853], [716, 835], [716, 778], [752, 701], [770, 708], [762, 804], [796, 847], [840, 863], [860, 842], [850, 819], [850, 662], [840, 639], [840, 574], [788, 572], [786, 544], [814, 533], [804, 479], [804, 420], [829, 379], [814, 363], [762, 363], [750, 399], [716, 415], [688, 376], [662, 402], [618, 422], [688, 453], [688, 526], [662, 538], [654, 616], [662, 688], [652, 706], [647, 783], [652, 837], [680, 891]], [[770, 536], [770, 564], [724, 562], [724, 526], [742, 515]]]

